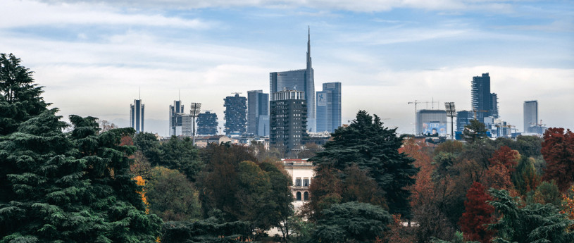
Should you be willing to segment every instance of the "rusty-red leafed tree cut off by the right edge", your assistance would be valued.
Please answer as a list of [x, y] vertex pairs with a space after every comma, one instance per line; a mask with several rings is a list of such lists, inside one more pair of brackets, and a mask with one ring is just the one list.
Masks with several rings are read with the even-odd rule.
[[561, 192], [565, 192], [574, 182], [574, 133], [570, 129], [552, 127], [544, 132], [544, 142], [540, 150], [547, 168], [544, 180], [556, 180]]

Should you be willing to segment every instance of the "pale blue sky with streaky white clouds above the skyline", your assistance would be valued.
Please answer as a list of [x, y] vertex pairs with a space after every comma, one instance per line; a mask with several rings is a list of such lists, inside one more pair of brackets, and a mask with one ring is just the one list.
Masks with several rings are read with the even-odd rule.
[[472, 77], [489, 73], [519, 132], [530, 100], [547, 127], [574, 128], [574, 1], [1, 2], [0, 53], [35, 72], [64, 118], [125, 127], [141, 95], [146, 132], [168, 135], [178, 97], [223, 126], [225, 96], [269, 92], [269, 73], [305, 68], [310, 28], [316, 91], [342, 83], [343, 123], [366, 110], [412, 133], [408, 102], [468, 110]]

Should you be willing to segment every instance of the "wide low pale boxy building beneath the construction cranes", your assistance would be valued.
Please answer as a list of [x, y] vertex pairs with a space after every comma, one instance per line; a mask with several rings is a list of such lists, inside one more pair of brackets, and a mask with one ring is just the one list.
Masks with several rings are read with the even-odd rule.
[[447, 136], [447, 111], [419, 110], [416, 113], [416, 134], [433, 137]]

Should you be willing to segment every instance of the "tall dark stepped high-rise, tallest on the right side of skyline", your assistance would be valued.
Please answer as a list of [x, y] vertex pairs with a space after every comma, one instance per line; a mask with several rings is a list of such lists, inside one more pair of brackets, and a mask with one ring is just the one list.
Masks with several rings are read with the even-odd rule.
[[470, 94], [470, 104], [476, 111], [477, 120], [482, 123], [487, 116], [499, 117], [498, 96], [496, 93], [490, 93], [490, 76], [488, 73], [473, 77]]

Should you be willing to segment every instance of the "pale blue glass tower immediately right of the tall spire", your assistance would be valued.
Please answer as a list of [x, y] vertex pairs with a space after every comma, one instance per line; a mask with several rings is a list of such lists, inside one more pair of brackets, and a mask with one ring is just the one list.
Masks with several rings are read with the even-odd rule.
[[341, 126], [341, 82], [325, 82], [317, 92], [317, 132], [335, 132]]

